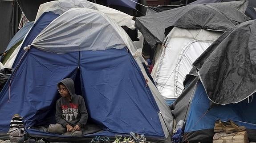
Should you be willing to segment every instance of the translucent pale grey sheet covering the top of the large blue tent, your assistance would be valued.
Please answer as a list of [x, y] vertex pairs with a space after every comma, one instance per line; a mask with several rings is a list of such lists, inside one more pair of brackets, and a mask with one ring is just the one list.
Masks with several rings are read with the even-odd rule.
[[132, 53], [137, 50], [120, 26], [104, 13], [88, 8], [69, 9], [53, 20], [31, 45], [58, 54], [81, 50], [122, 49], [124, 46], [128, 46]]

